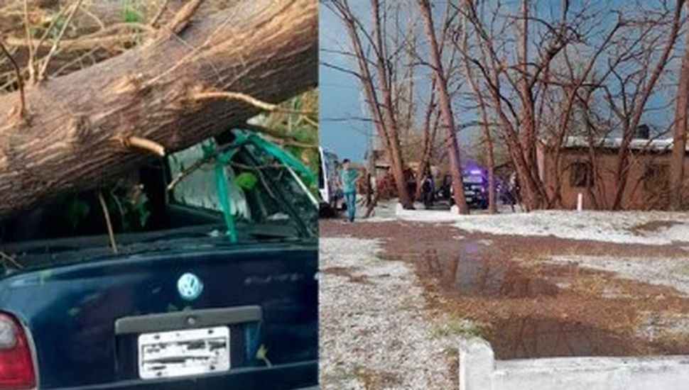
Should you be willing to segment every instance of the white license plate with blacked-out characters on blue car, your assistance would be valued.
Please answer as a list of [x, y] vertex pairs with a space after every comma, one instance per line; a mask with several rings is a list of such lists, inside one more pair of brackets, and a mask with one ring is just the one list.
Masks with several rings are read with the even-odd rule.
[[139, 377], [187, 377], [229, 370], [229, 328], [139, 335]]

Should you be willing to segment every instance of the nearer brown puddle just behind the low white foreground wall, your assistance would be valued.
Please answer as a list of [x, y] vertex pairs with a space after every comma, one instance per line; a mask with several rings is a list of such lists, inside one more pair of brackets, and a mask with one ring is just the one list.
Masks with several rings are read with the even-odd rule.
[[609, 330], [558, 318], [521, 317], [497, 321], [489, 335], [499, 359], [558, 356], [639, 355], [641, 343]]

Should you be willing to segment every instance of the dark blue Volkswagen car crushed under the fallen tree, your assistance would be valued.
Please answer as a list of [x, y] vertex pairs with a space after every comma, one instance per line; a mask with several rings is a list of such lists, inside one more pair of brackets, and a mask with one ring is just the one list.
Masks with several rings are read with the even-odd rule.
[[0, 389], [317, 385], [317, 204], [235, 135], [0, 221]]

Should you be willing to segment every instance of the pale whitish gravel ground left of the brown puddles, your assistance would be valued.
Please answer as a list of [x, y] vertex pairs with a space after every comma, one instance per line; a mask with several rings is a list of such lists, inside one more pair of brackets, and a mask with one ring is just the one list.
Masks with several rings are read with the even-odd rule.
[[322, 389], [456, 389], [454, 335], [379, 241], [320, 239]]

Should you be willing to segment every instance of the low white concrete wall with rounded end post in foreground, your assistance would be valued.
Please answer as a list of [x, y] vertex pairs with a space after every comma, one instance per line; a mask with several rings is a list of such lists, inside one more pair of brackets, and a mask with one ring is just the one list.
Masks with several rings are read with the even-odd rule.
[[689, 389], [689, 356], [494, 360], [480, 338], [460, 342], [460, 390]]

